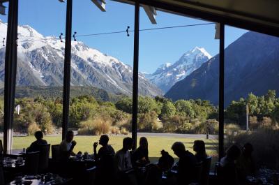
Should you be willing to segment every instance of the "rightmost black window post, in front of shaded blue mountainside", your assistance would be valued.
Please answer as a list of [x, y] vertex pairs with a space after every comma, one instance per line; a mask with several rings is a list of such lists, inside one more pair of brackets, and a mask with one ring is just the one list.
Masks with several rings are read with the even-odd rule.
[[225, 70], [225, 26], [220, 23], [219, 44], [219, 161], [224, 156], [224, 70]]

